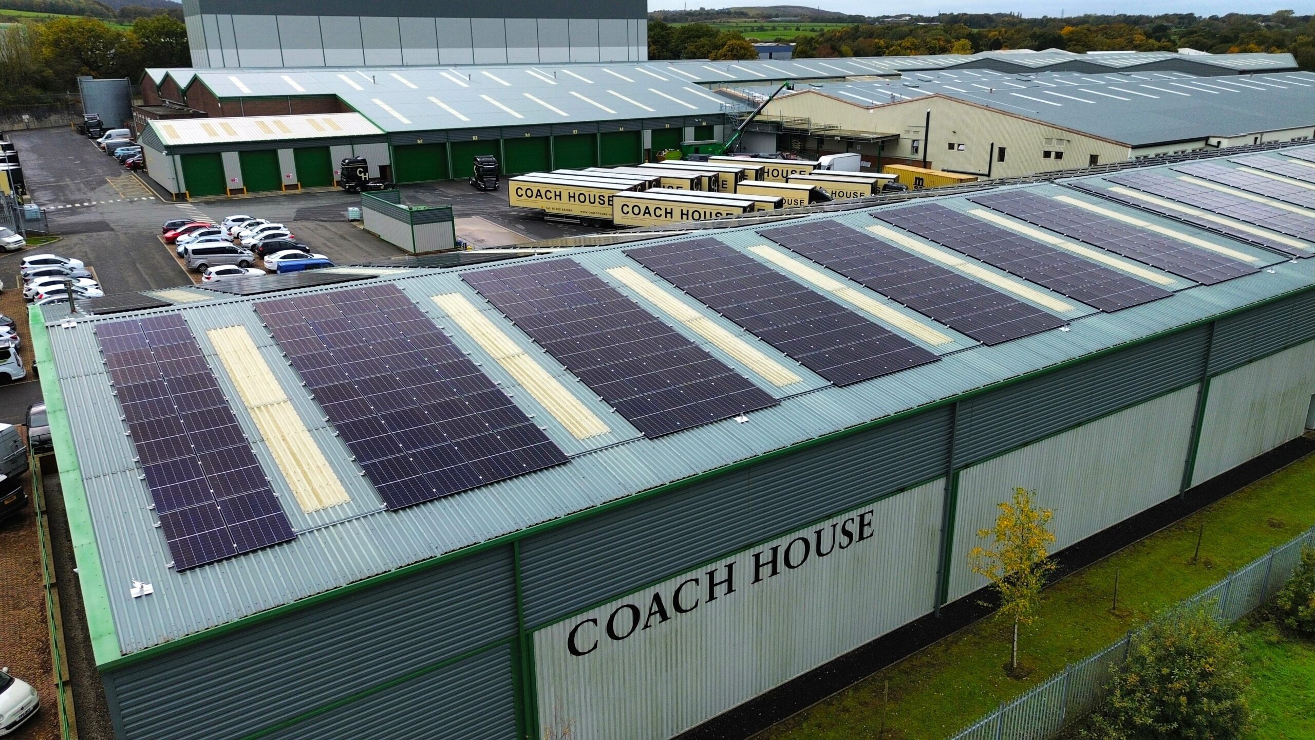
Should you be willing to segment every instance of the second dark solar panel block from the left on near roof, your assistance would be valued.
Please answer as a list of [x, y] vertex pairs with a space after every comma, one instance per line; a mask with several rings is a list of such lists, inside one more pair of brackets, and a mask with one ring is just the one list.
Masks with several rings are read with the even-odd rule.
[[567, 461], [396, 286], [255, 308], [388, 508]]

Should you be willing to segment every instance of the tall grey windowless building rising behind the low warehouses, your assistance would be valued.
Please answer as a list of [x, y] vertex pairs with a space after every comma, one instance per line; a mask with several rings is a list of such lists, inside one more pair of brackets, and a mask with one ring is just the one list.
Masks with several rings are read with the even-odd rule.
[[546, 65], [648, 58], [643, 0], [184, 0], [195, 67]]

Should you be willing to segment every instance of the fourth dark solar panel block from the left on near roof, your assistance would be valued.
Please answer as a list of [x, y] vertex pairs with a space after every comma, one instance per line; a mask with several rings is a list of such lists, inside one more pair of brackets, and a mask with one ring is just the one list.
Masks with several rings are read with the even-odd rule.
[[938, 359], [717, 240], [643, 246], [626, 255], [838, 386]]

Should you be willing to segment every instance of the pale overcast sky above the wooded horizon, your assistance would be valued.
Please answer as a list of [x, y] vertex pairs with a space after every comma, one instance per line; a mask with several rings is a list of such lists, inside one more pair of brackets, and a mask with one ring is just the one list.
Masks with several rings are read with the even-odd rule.
[[[785, 3], [781, 3], [782, 5]], [[681, 8], [730, 8], [738, 3], [714, 5], [707, 3], [685, 3], [684, 0], [648, 0], [650, 11], [672, 11]], [[1202, 16], [1216, 16], [1223, 13], [1269, 13], [1273, 11], [1290, 8], [1299, 16], [1315, 13], [1315, 0], [1289, 0], [1286, 3], [1239, 3], [1236, 0], [957, 0], [944, 3], [935, 0], [907, 0], [897, 5], [878, 5], [872, 0], [826, 0], [825, 3], [809, 3], [810, 7], [821, 7], [825, 11], [839, 11], [842, 13], [874, 14], [874, 13], [917, 13], [935, 14], [939, 12], [956, 13], [1023, 13], [1027, 17], [1041, 14], [1076, 16], [1081, 13], [1198, 13]]]

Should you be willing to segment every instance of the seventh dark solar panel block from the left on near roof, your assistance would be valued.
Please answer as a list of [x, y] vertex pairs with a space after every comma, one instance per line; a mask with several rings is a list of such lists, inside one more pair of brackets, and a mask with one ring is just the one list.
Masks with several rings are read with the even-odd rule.
[[1258, 271], [1256, 267], [1173, 237], [1035, 192], [1009, 190], [974, 195], [968, 200], [1207, 286]]

